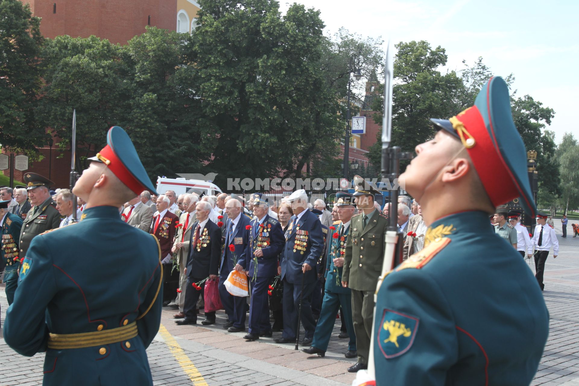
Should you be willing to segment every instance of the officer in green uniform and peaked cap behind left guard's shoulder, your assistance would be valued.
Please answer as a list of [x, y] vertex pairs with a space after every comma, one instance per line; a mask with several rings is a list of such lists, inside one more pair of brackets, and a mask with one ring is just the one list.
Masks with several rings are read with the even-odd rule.
[[26, 256], [32, 238], [60, 225], [60, 213], [56, 210], [56, 203], [50, 196], [50, 188], [54, 182], [36, 173], [26, 173], [24, 182], [32, 205], [28, 211], [22, 231], [20, 233], [20, 256]]

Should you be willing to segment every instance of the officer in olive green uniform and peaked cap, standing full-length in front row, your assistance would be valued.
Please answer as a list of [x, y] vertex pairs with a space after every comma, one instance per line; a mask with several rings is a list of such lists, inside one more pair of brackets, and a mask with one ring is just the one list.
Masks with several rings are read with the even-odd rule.
[[348, 369], [351, 373], [368, 366], [374, 292], [384, 259], [384, 232], [388, 226], [386, 217], [374, 207], [374, 194], [379, 193], [378, 189], [356, 175], [354, 190], [356, 205], [362, 209], [362, 213], [351, 219], [342, 272], [342, 286], [352, 291], [352, 314], [358, 349], [358, 362]]

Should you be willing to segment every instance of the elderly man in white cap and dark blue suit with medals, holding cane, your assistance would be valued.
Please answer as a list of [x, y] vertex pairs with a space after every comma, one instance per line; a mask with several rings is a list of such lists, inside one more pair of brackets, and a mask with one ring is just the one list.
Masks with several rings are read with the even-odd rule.
[[[302, 345], [310, 345], [316, 330], [312, 315], [312, 292], [318, 280], [316, 264], [324, 249], [320, 220], [307, 210], [307, 194], [296, 190], [287, 199], [294, 216], [285, 233], [285, 247], [281, 256], [281, 279], [284, 283], [284, 330], [276, 343], [295, 341], [298, 331], [298, 310], [302, 299], [302, 323], [306, 330]], [[302, 296], [303, 288], [303, 296]]]

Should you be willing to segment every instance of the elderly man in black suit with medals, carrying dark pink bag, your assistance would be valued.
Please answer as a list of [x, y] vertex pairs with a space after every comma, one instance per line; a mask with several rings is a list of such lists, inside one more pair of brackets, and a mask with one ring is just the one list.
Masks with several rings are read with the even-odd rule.
[[[193, 288], [193, 284], [208, 280], [217, 280], [219, 270], [219, 258], [221, 257], [221, 228], [209, 219], [213, 210], [207, 201], [199, 201], [195, 207], [197, 222], [192, 225], [189, 242], [189, 255], [187, 258], [184, 274], [187, 275], [187, 291], [185, 291], [185, 305], [183, 312], [185, 318], [175, 321], [178, 325], [197, 324], [197, 300], [204, 292]], [[215, 311], [205, 313], [203, 325], [215, 323]]]

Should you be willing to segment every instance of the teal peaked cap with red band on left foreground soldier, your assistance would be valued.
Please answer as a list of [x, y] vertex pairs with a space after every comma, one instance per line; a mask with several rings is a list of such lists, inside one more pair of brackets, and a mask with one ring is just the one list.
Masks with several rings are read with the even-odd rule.
[[158, 194], [146, 174], [133, 141], [122, 127], [109, 128], [107, 146], [89, 160], [106, 164], [109, 170], [135, 194], [140, 194], [143, 190]]

